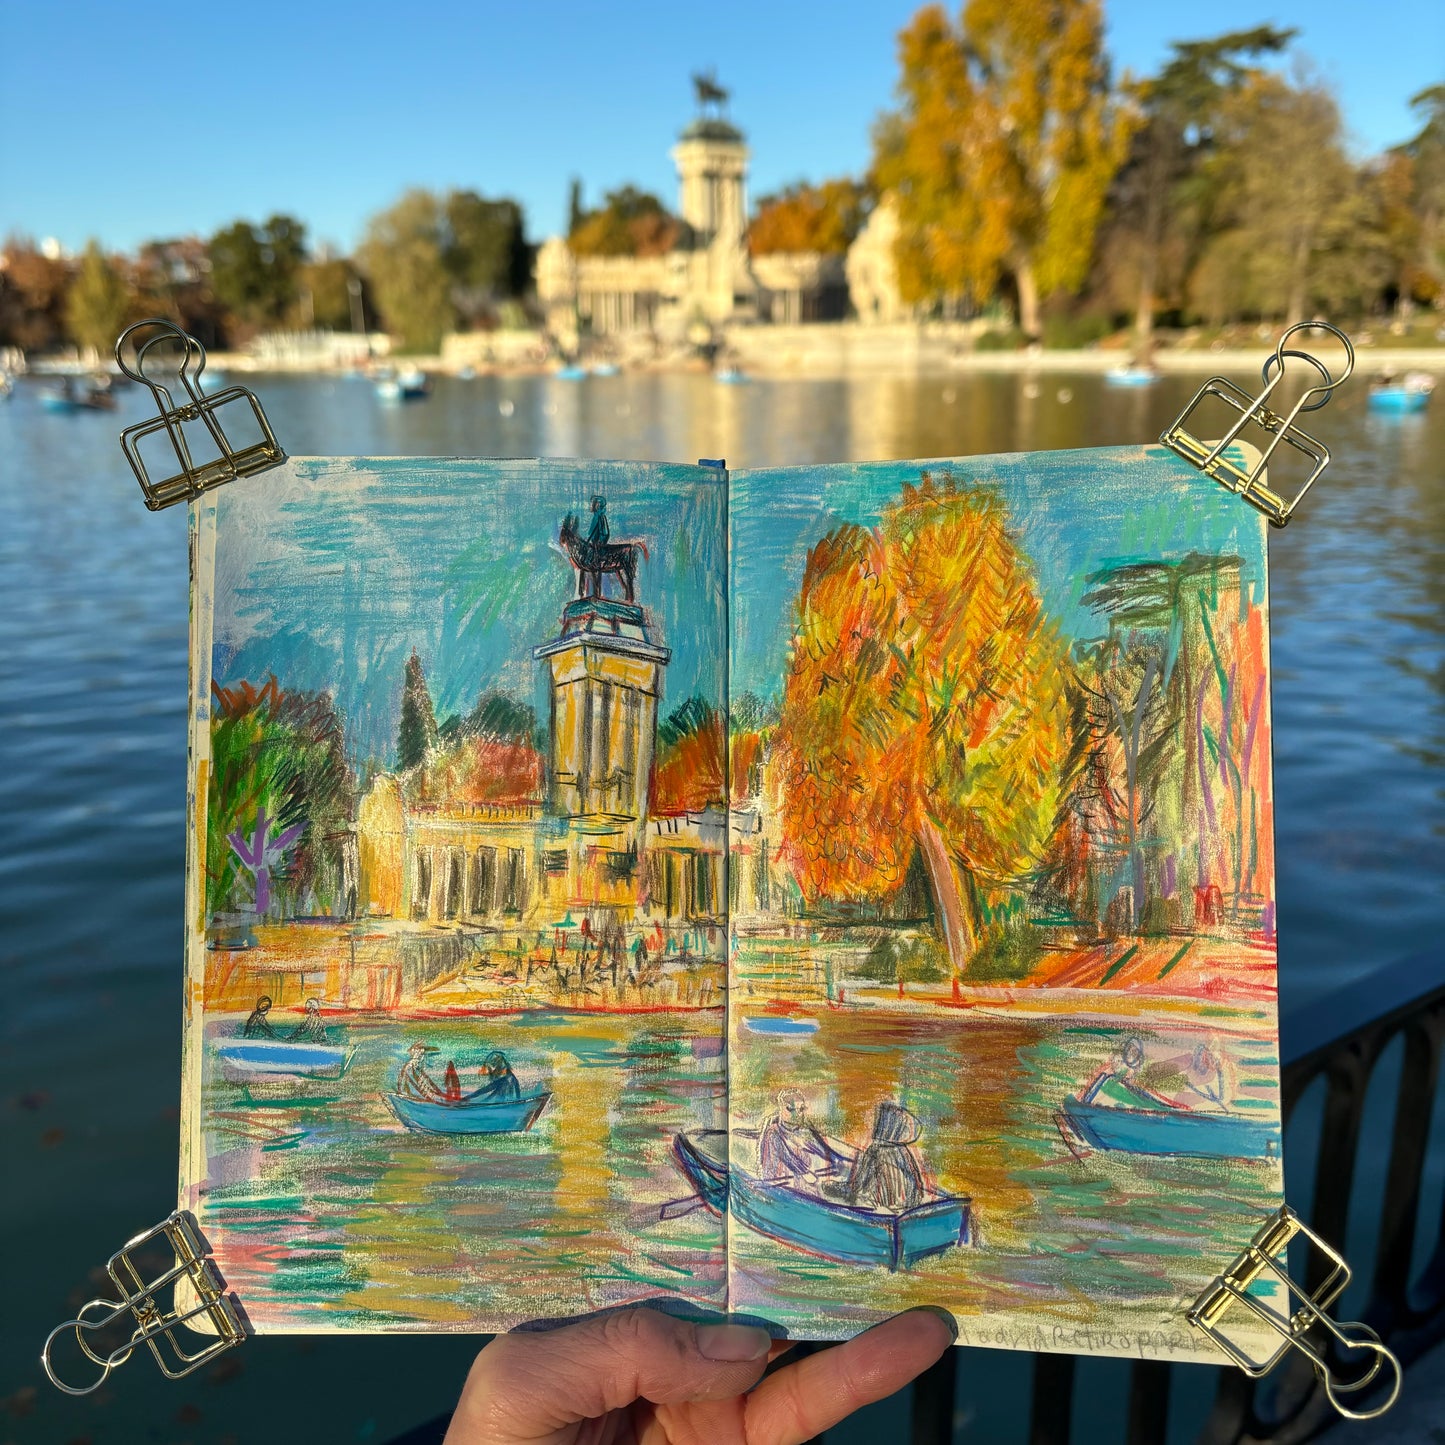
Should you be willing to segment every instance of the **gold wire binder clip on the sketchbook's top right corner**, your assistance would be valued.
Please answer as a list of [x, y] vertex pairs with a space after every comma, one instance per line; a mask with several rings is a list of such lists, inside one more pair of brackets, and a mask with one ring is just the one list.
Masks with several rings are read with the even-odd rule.
[[[1332, 337], [1337, 337], [1345, 348], [1344, 371], [1338, 377], [1331, 376], [1329, 367], [1316, 355], [1312, 355], [1309, 351], [1300, 351], [1298, 347], [1286, 347], [1286, 342], [1296, 331], [1328, 331]], [[1319, 386], [1312, 386], [1305, 392], [1287, 416], [1280, 416], [1270, 410], [1267, 403], [1270, 393], [1285, 376], [1286, 357], [1293, 357], [1312, 366], [1322, 377], [1322, 381]], [[1198, 467], [1207, 477], [1214, 477], [1215, 481], [1228, 487], [1230, 491], [1238, 493], [1251, 506], [1259, 507], [1274, 526], [1282, 527], [1289, 522], [1290, 513], [1299, 506], [1305, 493], [1315, 484], [1315, 478], [1329, 465], [1329, 449], [1311, 436], [1302, 426], [1296, 426], [1295, 418], [1300, 412], [1319, 410], [1334, 396], [1335, 387], [1342, 386], [1350, 379], [1351, 371], [1354, 371], [1354, 347], [1350, 345], [1350, 338], [1338, 327], [1329, 325], [1328, 321], [1300, 321], [1279, 338], [1279, 345], [1274, 347], [1273, 354], [1266, 360], [1261, 371], [1264, 389], [1259, 396], [1250, 396], [1222, 376], [1211, 376], [1195, 392], [1194, 400], [1179, 413], [1173, 426], [1159, 441], [1186, 462]], [[1224, 434], [1222, 439], [1212, 445], [1199, 441], [1185, 425], [1207, 397], [1217, 397], [1224, 402], [1233, 410], [1238, 412], [1240, 418]], [[1259, 461], [1253, 467], [1246, 468], [1227, 457], [1225, 449], [1250, 422], [1263, 428], [1270, 435], [1270, 442], [1260, 452]], [[1305, 484], [1289, 500], [1280, 496], [1280, 493], [1272, 491], [1264, 481], [1270, 455], [1280, 442], [1286, 442], [1295, 451], [1303, 452], [1314, 464], [1314, 470], [1309, 473]]]

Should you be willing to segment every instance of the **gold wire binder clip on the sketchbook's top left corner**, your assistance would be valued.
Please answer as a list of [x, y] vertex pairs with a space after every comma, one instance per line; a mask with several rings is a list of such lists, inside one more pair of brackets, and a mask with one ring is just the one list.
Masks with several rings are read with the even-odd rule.
[[[134, 366], [129, 366], [123, 355], [126, 342], [137, 332], [155, 328], [156, 334], [136, 347]], [[146, 357], [162, 342], [181, 344], [179, 379], [185, 387], [186, 399], [178, 406], [169, 387], [146, 376]], [[140, 483], [144, 493], [146, 506], [152, 512], [173, 506], [176, 501], [191, 501], [211, 487], [234, 481], [237, 477], [251, 477], [270, 467], [279, 467], [286, 454], [282, 451], [276, 435], [266, 420], [262, 403], [244, 386], [228, 386], [220, 392], [207, 394], [201, 390], [201, 373], [205, 371], [205, 347], [195, 337], [188, 335], [178, 325], [159, 316], [147, 321], [137, 321], [127, 327], [116, 341], [116, 363], [133, 381], [140, 381], [150, 387], [150, 394], [156, 399], [159, 416], [150, 420], [127, 426], [120, 434], [120, 447], [130, 462], [130, 470]], [[231, 416], [246, 418], [247, 413], [237, 403], [250, 407], [249, 425], [257, 434], [241, 447], [233, 445], [221, 425], [220, 413], [231, 407]], [[231, 420], [236, 426], [237, 420]], [[205, 447], [214, 455], [202, 455], [201, 460], [192, 457], [191, 442], [186, 439], [186, 428], [191, 438]], [[175, 452], [175, 464], [179, 467], [159, 481], [150, 480], [150, 473], [140, 455], [140, 444], [156, 432], [165, 432]]]

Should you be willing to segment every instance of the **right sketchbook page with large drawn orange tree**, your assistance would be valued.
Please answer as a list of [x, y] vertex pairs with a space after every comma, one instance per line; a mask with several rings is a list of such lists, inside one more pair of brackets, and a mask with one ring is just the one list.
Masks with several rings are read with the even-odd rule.
[[730, 1303], [1218, 1358], [1282, 1201], [1266, 523], [1160, 448], [734, 473]]

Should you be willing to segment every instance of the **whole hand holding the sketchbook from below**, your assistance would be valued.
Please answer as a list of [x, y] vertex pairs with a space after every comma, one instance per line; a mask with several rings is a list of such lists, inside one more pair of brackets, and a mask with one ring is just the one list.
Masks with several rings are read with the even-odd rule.
[[751, 1325], [624, 1309], [499, 1335], [445, 1445], [801, 1445], [926, 1370], [954, 1341], [945, 1319], [910, 1309], [762, 1384], [792, 1345]]

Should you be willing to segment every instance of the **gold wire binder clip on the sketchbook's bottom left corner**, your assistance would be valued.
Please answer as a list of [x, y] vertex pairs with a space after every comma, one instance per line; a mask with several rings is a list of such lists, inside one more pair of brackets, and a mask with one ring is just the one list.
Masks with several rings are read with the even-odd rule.
[[[171, 1269], [146, 1277], [146, 1264], [133, 1256], [139, 1254], [153, 1241], [168, 1244], [175, 1263]], [[120, 1299], [92, 1299], [81, 1306], [75, 1319], [66, 1319], [64, 1325], [56, 1325], [45, 1338], [45, 1348], [40, 1351], [40, 1364], [51, 1379], [51, 1384], [66, 1394], [90, 1394], [91, 1390], [104, 1384], [107, 1376], [118, 1364], [130, 1358], [130, 1353], [139, 1344], [144, 1344], [160, 1366], [160, 1373], [168, 1380], [179, 1380], [192, 1370], [199, 1368], [208, 1360], [214, 1360], [224, 1350], [238, 1345], [246, 1338], [241, 1316], [234, 1296], [227, 1296], [225, 1280], [221, 1272], [207, 1257], [208, 1248], [201, 1235], [199, 1225], [186, 1211], [172, 1214], [163, 1224], [158, 1224], [144, 1234], [137, 1234], [127, 1241], [126, 1247], [111, 1254], [105, 1264], [105, 1273], [114, 1280], [120, 1290]], [[156, 1296], [162, 1290], [172, 1290], [171, 1306], [166, 1308]], [[124, 1319], [124, 1316], [130, 1319]], [[204, 1322], [215, 1338], [204, 1344], [199, 1350], [189, 1348], [172, 1331], [176, 1325], [195, 1319], [198, 1327]], [[92, 1340], [87, 1334], [98, 1335], [101, 1331], [123, 1321], [121, 1329], [134, 1322], [129, 1340], [123, 1340], [114, 1348], [100, 1344], [92, 1348]], [[197, 1327], [192, 1327], [197, 1328]], [[100, 1374], [90, 1384], [66, 1384], [56, 1373], [51, 1351], [55, 1341], [66, 1331], [74, 1331], [75, 1341], [87, 1360], [100, 1366]]]

